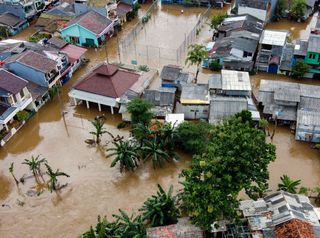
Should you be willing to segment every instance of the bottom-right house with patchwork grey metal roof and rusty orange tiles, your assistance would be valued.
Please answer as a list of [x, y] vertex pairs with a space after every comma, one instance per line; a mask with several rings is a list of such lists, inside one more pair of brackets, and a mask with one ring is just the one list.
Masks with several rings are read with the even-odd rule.
[[284, 191], [240, 202], [253, 237], [318, 238], [319, 217], [309, 198]]

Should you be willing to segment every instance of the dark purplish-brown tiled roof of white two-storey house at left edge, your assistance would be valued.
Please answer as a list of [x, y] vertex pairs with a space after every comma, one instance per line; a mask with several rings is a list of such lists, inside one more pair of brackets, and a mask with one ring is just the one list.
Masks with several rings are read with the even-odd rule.
[[28, 81], [10, 73], [4, 69], [0, 69], [0, 89], [5, 90], [11, 94], [19, 93]]

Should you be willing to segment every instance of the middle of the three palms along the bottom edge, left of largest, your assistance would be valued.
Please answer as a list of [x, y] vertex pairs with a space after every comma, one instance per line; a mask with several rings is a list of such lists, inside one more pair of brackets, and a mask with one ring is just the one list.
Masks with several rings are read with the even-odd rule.
[[147, 238], [146, 227], [143, 223], [141, 215], [133, 217], [121, 209], [119, 209], [120, 214], [113, 214], [112, 216], [116, 218], [116, 222], [119, 223], [119, 228], [117, 230], [117, 235], [119, 237], [135, 237], [135, 238]]

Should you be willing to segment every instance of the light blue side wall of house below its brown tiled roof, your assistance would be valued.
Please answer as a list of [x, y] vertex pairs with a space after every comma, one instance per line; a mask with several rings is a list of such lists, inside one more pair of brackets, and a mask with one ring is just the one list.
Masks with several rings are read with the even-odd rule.
[[48, 87], [45, 74], [41, 71], [35, 70], [18, 62], [8, 63], [4, 67], [27, 81], [31, 81], [43, 87]]

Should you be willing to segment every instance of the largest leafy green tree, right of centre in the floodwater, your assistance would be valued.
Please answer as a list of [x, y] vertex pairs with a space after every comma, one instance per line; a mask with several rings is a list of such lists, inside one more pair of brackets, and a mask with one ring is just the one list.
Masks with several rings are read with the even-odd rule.
[[181, 194], [191, 221], [210, 230], [213, 221], [237, 218], [238, 195], [250, 197], [268, 187], [268, 165], [274, 161], [275, 147], [266, 143], [265, 134], [232, 117], [210, 130], [210, 141], [181, 177]]

